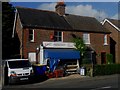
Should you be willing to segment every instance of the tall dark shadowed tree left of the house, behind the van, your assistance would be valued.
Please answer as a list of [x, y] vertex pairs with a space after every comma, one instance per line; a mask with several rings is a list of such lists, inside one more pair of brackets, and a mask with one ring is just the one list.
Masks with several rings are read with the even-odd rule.
[[17, 40], [12, 38], [15, 9], [8, 2], [2, 3], [2, 59], [12, 58], [17, 52]]

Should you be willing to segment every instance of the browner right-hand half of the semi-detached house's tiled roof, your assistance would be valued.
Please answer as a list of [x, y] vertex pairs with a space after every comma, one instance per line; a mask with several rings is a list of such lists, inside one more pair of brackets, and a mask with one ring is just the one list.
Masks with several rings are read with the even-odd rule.
[[99, 33], [109, 33], [98, 20], [94, 17], [85, 17], [66, 14], [66, 21], [72, 26], [74, 30], [80, 30], [84, 32], [99, 32]]

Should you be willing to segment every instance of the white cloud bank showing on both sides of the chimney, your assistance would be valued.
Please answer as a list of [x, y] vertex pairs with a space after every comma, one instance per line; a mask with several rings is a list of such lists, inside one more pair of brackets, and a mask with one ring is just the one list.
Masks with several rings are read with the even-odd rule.
[[[55, 11], [55, 5], [56, 3], [45, 3], [39, 5], [37, 9]], [[96, 10], [92, 7], [92, 5], [79, 4], [77, 6], [67, 6], [66, 13], [80, 15], [80, 16], [95, 17], [98, 20], [103, 20], [104, 18], [108, 17], [108, 15], [104, 11]]]

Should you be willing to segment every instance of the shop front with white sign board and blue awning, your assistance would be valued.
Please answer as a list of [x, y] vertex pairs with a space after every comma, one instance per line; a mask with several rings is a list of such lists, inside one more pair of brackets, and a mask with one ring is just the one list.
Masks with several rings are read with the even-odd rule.
[[40, 46], [40, 64], [49, 66], [50, 71], [64, 68], [76, 72], [79, 69], [80, 52], [75, 50], [74, 43], [43, 42]]

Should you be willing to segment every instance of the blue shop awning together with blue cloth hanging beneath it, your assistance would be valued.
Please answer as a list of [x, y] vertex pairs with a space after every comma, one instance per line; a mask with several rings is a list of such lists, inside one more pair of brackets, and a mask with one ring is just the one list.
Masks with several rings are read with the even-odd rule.
[[80, 59], [80, 52], [74, 49], [45, 49], [44, 59], [49, 59], [50, 71], [53, 72], [59, 60]]

